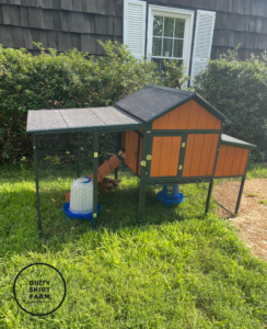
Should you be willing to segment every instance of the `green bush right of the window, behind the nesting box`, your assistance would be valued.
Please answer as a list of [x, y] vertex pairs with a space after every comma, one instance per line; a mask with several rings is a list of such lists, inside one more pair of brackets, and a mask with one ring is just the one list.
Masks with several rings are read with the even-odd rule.
[[257, 145], [253, 160], [267, 158], [267, 56], [240, 61], [232, 50], [210, 60], [195, 78], [195, 91], [232, 121], [225, 134]]

